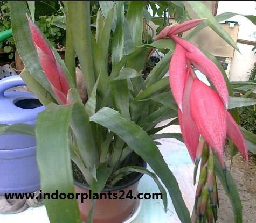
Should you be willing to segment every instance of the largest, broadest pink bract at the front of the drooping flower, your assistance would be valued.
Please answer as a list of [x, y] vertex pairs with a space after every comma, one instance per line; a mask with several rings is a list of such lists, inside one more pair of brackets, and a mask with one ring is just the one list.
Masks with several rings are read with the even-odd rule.
[[191, 117], [206, 142], [223, 157], [226, 139], [226, 110], [218, 94], [195, 79], [190, 93]]

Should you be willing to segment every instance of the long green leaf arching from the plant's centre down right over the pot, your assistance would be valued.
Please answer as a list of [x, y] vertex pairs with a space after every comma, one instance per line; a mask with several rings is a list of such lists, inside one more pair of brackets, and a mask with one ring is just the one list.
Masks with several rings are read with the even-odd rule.
[[179, 191], [178, 183], [150, 136], [133, 121], [124, 118], [120, 113], [108, 107], [99, 110], [90, 120], [105, 126], [120, 136], [135, 153], [139, 154], [150, 165], [167, 187], [181, 222], [191, 222], [190, 214]]

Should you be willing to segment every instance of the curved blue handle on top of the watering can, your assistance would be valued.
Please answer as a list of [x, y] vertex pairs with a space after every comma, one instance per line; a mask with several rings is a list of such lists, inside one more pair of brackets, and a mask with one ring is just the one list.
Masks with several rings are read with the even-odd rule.
[[0, 97], [4, 97], [4, 91], [8, 89], [24, 85], [26, 85], [26, 83], [22, 80], [22, 78], [19, 75], [5, 77], [2, 80], [0, 80]]

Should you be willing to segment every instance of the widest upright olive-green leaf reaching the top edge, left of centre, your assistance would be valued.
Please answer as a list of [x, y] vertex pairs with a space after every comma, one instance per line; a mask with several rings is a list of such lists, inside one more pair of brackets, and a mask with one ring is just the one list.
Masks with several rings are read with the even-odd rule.
[[67, 1], [67, 6], [74, 49], [85, 77], [87, 92], [90, 94], [95, 84], [90, 30], [90, 3], [84, 1], [74, 4]]

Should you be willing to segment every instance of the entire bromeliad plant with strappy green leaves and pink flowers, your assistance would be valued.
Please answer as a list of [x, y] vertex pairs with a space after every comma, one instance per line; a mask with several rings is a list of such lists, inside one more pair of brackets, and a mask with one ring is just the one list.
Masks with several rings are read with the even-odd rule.
[[[168, 26], [155, 42], [142, 45], [143, 2], [130, 2], [126, 16], [122, 1], [99, 2], [95, 36], [91, 32], [89, 2], [64, 2], [67, 15], [64, 63], [26, 16], [29, 15], [26, 3], [10, 4], [13, 36], [26, 66], [22, 78], [46, 106], [38, 116], [35, 131], [44, 192], [52, 193], [56, 189], [74, 192], [70, 160], [93, 192], [118, 184], [130, 172], [143, 172], [154, 178], [163, 193], [165, 210], [167, 193], [158, 178], [167, 188], [181, 222], [190, 222], [178, 183], [153, 140], [179, 136], [155, 134], [175, 124], [178, 117], [196, 167], [201, 160], [193, 214], [204, 221], [217, 219], [217, 174], [232, 204], [238, 203], [234, 205], [234, 219], [241, 222], [238, 192], [223, 161], [226, 135], [246, 162], [247, 150], [236, 122], [226, 110], [224, 71], [219, 71], [214, 59], [177, 37], [202, 19]], [[198, 15], [205, 16], [206, 11], [213, 30], [236, 47], [202, 3], [190, 4]], [[142, 71], [155, 48], [169, 49], [169, 52], [144, 81]], [[85, 105], [75, 84], [75, 55], [89, 95]], [[110, 73], [109, 61], [112, 61]], [[192, 65], [209, 77], [212, 87], [198, 80]], [[168, 70], [169, 80], [164, 77]], [[232, 95], [232, 91], [229, 93]], [[170, 118], [175, 119], [155, 128], [157, 123]], [[136, 166], [139, 156], [155, 174]], [[75, 200], [45, 200], [45, 205], [51, 222], [81, 222]]]

